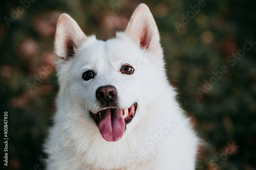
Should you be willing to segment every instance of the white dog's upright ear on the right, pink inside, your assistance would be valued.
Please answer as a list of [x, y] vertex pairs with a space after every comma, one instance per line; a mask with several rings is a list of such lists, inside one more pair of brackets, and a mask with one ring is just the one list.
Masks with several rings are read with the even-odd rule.
[[134, 11], [126, 30], [124, 31], [141, 49], [154, 52], [160, 49], [160, 37], [156, 22], [150, 9], [140, 4]]

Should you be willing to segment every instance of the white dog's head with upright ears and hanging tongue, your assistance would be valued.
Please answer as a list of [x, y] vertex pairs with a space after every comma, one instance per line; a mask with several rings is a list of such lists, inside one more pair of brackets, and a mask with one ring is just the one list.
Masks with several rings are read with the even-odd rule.
[[62, 14], [55, 53], [60, 93], [84, 110], [84, 118], [107, 141], [119, 140], [127, 124], [136, 126], [143, 108], [158, 98], [159, 77], [165, 80], [157, 26], [143, 4], [126, 30], [108, 41], [84, 35], [69, 15]]

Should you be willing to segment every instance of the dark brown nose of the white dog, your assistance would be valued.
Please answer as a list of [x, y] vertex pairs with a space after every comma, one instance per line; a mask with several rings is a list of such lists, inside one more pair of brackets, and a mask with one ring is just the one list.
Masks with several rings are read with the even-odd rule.
[[114, 104], [117, 99], [117, 90], [114, 86], [101, 86], [96, 90], [96, 98], [101, 104], [109, 106]]

